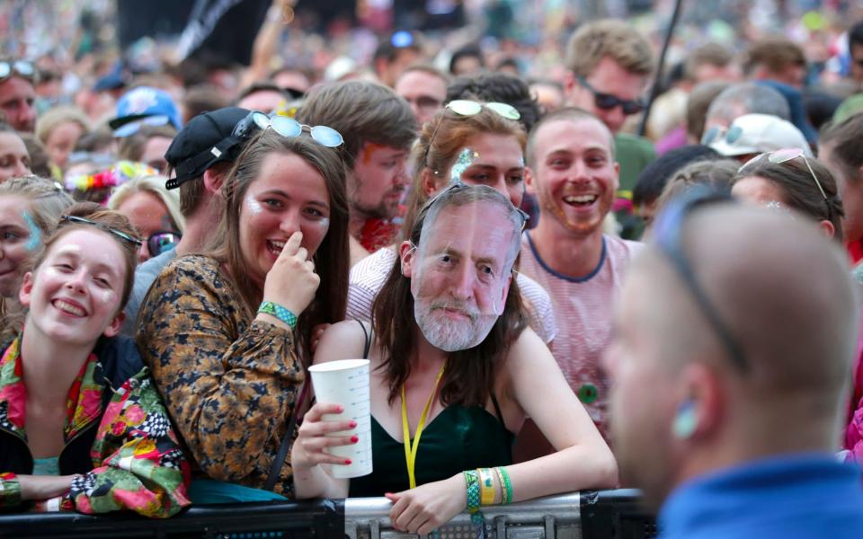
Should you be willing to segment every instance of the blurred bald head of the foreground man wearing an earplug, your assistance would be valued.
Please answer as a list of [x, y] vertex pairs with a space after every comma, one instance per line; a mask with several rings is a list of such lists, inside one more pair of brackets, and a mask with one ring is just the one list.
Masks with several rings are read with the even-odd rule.
[[749, 367], [734, 362], [671, 258], [645, 249], [606, 364], [621, 482], [653, 507], [712, 470], [835, 450], [859, 327], [844, 254], [803, 218], [718, 204], [684, 221], [682, 243]]

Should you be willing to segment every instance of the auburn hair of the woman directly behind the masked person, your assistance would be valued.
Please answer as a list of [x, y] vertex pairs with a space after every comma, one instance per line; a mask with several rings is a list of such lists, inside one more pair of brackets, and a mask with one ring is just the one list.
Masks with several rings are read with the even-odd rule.
[[486, 107], [473, 116], [460, 116], [446, 109], [439, 110], [432, 119], [425, 122], [423, 131], [411, 151], [414, 177], [402, 225], [405, 238], [413, 229], [417, 212], [428, 200], [423, 189], [423, 170], [428, 168], [437, 187], [440, 187], [449, 180], [446, 172], [458, 157], [459, 150], [465, 147], [469, 138], [480, 134], [516, 137], [522, 153], [527, 144], [527, 134], [518, 121], [503, 118]]

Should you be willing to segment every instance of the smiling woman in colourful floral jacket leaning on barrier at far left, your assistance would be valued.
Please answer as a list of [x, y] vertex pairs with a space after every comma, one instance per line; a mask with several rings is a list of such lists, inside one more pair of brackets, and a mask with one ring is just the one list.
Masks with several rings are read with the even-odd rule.
[[139, 241], [117, 212], [67, 211], [0, 358], [0, 507], [170, 517], [190, 503], [189, 464], [134, 343], [115, 337]]

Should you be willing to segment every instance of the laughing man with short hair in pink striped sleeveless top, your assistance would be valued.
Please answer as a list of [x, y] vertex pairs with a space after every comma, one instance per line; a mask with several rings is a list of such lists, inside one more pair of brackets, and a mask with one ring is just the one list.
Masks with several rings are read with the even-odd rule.
[[641, 246], [602, 233], [618, 189], [613, 137], [589, 112], [557, 110], [530, 132], [528, 163], [540, 215], [524, 234], [520, 271], [551, 296], [557, 320], [552, 351], [605, 434], [609, 379], [600, 357], [610, 338], [612, 298]]

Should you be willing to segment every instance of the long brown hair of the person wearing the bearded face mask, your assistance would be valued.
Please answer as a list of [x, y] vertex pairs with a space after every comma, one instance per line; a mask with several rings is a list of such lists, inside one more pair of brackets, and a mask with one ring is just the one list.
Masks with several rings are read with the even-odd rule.
[[[485, 186], [464, 185], [458, 189], [443, 191], [438, 197], [420, 210], [411, 230], [410, 241], [420, 249], [423, 225], [429, 225], [426, 233], [437, 220], [440, 211], [452, 206], [465, 206], [480, 201], [492, 202], [514, 221], [518, 210], [509, 199], [496, 190]], [[516, 243], [507, 256], [507, 269], [512, 268], [520, 243], [520, 224], [514, 228], [513, 242]], [[388, 402], [392, 404], [405, 380], [411, 375], [411, 359], [416, 356], [416, 332], [419, 326], [414, 319], [414, 296], [411, 294], [411, 280], [402, 275], [401, 263], [396, 260], [387, 281], [381, 287], [372, 305], [372, 325], [378, 335], [383, 362], [380, 369], [385, 372], [389, 386]], [[521, 303], [521, 295], [516, 279], [512, 278], [509, 294], [503, 306], [503, 314], [498, 317], [492, 331], [474, 348], [449, 353], [447, 370], [440, 389], [440, 402], [444, 405], [463, 404], [465, 406], [485, 405], [494, 389], [494, 374], [506, 350], [517, 340], [528, 325], [528, 318]]]

